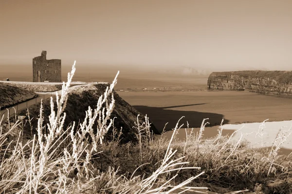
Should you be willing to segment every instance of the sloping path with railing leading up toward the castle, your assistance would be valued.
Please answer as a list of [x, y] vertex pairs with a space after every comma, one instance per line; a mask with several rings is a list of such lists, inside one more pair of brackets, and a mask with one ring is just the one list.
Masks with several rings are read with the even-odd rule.
[[38, 96], [37, 98], [28, 100], [26, 102], [20, 103], [16, 106], [12, 106], [12, 107], [1, 110], [0, 111], [0, 120], [2, 119], [2, 117], [3, 117], [3, 119], [6, 119], [8, 117], [8, 115], [9, 115], [9, 117], [13, 116], [14, 114], [18, 113], [18, 111], [20, 111], [24, 108], [27, 108], [29, 106], [32, 106], [34, 104], [37, 104], [41, 100], [46, 100], [48, 98], [51, 98], [51, 96], [55, 95], [55, 92], [56, 91], [53, 91], [53, 92], [44, 94], [42, 96]]

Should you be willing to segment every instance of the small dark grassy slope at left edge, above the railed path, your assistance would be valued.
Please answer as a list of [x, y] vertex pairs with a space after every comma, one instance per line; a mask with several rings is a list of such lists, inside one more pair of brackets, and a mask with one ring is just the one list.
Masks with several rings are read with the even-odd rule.
[[27, 89], [18, 88], [9, 84], [0, 83], [0, 109], [5, 109], [10, 106], [25, 102], [38, 95]]

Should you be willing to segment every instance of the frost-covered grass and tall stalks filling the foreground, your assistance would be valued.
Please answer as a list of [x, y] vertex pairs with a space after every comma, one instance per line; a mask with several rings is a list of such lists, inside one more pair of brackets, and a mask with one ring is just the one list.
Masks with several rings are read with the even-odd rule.
[[[271, 150], [253, 150], [242, 138], [222, 137], [222, 127], [216, 138], [203, 139], [205, 120], [200, 132], [188, 134], [186, 141], [176, 139], [183, 127], [180, 120], [170, 141], [153, 140], [146, 116], [145, 123], [137, 121], [133, 126], [137, 143], [121, 145], [119, 138], [104, 141], [114, 122], [110, 114], [118, 74], [100, 96], [97, 108], [88, 108], [84, 122], [72, 121], [64, 128], [63, 111], [74, 72], [75, 63], [61, 96], [56, 95], [57, 111], [51, 98], [47, 125], [41, 106], [37, 135], [23, 137], [25, 117], [18, 117], [15, 123], [0, 122], [1, 194], [178, 194], [204, 193], [207, 187], [220, 193], [292, 192], [292, 157], [277, 154], [289, 130], [279, 131]], [[93, 128], [95, 123], [97, 128]], [[119, 137], [113, 131], [113, 137]]]

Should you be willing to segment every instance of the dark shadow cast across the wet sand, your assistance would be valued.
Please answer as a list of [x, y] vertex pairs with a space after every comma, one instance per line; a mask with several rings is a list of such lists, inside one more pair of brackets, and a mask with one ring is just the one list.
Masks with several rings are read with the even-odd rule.
[[[205, 103], [204, 103], [205, 104]], [[183, 128], [187, 127], [189, 123], [189, 128], [201, 127], [203, 119], [209, 118], [205, 122], [206, 127], [220, 125], [224, 115], [217, 113], [208, 113], [208, 112], [197, 112], [197, 111], [182, 111], [182, 110], [170, 110], [169, 108], [183, 107], [183, 106], [198, 106], [203, 104], [192, 104], [192, 105], [181, 105], [181, 106], [166, 106], [166, 107], [150, 107], [150, 106], [133, 106], [139, 112], [150, 118], [151, 122], [155, 127], [162, 132], [165, 123], [168, 123], [165, 127], [165, 131], [173, 129], [178, 122], [178, 120], [184, 116], [180, 121], [179, 126], [183, 124]], [[224, 124], [227, 124], [229, 120], [224, 119]]]

